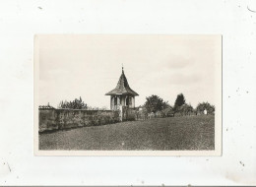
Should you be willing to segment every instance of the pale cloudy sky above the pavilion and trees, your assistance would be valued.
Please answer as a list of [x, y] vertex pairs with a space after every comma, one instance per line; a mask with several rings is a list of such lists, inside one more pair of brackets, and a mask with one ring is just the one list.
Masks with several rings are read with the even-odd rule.
[[37, 35], [38, 103], [57, 107], [79, 96], [92, 107], [110, 107], [122, 72], [139, 94], [135, 105], [159, 95], [170, 105], [184, 94], [193, 107], [216, 102], [222, 36], [158, 34]]

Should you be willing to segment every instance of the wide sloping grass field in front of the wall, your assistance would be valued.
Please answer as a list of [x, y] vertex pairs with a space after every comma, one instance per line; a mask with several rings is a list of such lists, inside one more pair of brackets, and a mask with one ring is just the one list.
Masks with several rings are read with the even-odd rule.
[[156, 118], [39, 135], [39, 150], [214, 150], [212, 115]]

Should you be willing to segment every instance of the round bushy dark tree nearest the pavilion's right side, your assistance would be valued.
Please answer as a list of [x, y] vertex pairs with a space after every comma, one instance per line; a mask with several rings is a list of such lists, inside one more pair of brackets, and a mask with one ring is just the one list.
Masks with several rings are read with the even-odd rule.
[[169, 104], [166, 101], [163, 101], [160, 96], [152, 94], [151, 96], [146, 97], [146, 102], [144, 106], [146, 107], [148, 113], [156, 113], [157, 111], [161, 111], [168, 107]]

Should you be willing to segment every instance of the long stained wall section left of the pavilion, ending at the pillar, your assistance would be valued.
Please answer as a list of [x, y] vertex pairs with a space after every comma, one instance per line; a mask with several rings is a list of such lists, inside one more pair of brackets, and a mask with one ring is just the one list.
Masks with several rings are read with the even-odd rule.
[[119, 112], [112, 110], [83, 110], [39, 108], [39, 132], [120, 121]]

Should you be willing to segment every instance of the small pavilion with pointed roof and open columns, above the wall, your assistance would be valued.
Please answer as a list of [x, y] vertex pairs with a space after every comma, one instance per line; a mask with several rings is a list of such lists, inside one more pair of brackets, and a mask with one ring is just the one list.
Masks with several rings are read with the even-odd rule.
[[105, 95], [110, 95], [110, 109], [116, 110], [120, 106], [127, 106], [129, 108], [135, 107], [135, 96], [138, 96], [128, 84], [122, 68], [122, 74], [114, 90]]

